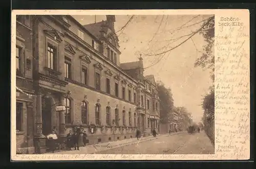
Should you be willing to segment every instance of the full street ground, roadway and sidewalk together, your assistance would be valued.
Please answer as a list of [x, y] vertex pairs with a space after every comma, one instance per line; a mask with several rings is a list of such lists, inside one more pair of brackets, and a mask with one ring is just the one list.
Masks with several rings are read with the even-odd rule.
[[[172, 133], [113, 142], [104, 142], [79, 151], [59, 151], [54, 154], [214, 154], [215, 149], [203, 132], [188, 134]], [[52, 154], [52, 153], [49, 153]]]

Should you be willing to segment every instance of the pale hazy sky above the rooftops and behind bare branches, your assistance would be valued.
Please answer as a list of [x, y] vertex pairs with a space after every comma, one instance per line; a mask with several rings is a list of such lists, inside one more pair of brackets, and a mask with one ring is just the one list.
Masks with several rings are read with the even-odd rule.
[[[75, 15], [82, 25], [106, 20], [105, 15]], [[115, 31], [120, 45], [120, 62], [138, 61], [141, 54], [145, 67], [144, 75], [154, 75], [172, 89], [174, 106], [184, 106], [200, 122], [203, 96], [212, 85], [210, 70], [195, 67], [206, 44], [200, 34], [191, 39], [184, 36], [197, 31], [202, 20], [210, 15], [116, 15]], [[96, 19], [95, 19], [96, 18]], [[198, 23], [200, 22], [200, 23]], [[121, 29], [124, 27], [123, 29]], [[119, 31], [121, 30], [121, 31]], [[173, 47], [177, 48], [161, 55]], [[150, 56], [152, 55], [152, 56]]]

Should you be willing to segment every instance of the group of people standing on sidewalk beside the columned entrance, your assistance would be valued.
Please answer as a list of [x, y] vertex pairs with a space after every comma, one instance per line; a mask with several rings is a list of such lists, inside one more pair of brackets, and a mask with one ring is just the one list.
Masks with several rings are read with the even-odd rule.
[[[79, 139], [81, 136], [82, 140]], [[80, 143], [80, 145], [83, 144], [83, 146], [86, 146], [86, 143], [88, 143], [86, 131], [83, 131], [81, 133], [77, 130], [74, 130], [74, 132], [70, 130], [67, 134], [67, 138], [65, 138], [65, 140], [60, 140], [57, 136], [56, 129], [54, 128], [52, 130], [52, 133], [47, 135], [47, 147], [53, 153], [56, 150], [56, 148], [59, 147], [58, 145], [61, 144], [65, 144], [65, 146], [63, 147], [65, 147], [68, 151], [72, 150], [72, 148], [74, 148], [74, 150], [79, 150], [79, 140], [80, 142], [82, 142]]]

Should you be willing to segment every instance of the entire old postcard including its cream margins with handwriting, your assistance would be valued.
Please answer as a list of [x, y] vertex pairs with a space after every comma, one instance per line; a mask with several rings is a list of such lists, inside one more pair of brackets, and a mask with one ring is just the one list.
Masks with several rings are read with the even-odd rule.
[[248, 10], [11, 20], [12, 160], [250, 158]]

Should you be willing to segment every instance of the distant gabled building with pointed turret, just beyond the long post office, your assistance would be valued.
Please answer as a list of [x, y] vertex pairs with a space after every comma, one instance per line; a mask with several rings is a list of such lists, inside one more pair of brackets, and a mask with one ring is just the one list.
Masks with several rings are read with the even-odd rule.
[[120, 67], [140, 83], [138, 95], [140, 101], [137, 107], [140, 130], [145, 135], [150, 135], [154, 129], [157, 133], [160, 133], [160, 100], [154, 76], [148, 75], [144, 77], [141, 57], [136, 62], [121, 63]]

